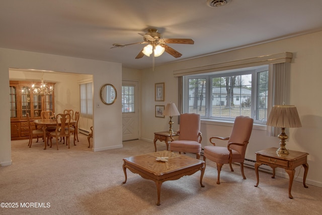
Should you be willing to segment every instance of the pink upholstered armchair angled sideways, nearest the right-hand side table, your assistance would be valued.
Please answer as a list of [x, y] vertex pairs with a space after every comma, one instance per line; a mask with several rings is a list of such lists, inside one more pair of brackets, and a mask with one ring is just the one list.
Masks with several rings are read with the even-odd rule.
[[[231, 164], [239, 163], [240, 171], [243, 178], [246, 179], [244, 174], [244, 160], [247, 145], [251, 137], [253, 129], [253, 119], [248, 116], [237, 116], [233, 123], [232, 131], [228, 137], [212, 136], [209, 141], [213, 146], [205, 146], [203, 160], [206, 167], [206, 158], [217, 164], [217, 184], [220, 184], [220, 171], [223, 164], [229, 164], [231, 172], [233, 172]], [[228, 140], [227, 146], [216, 146], [213, 139]]]

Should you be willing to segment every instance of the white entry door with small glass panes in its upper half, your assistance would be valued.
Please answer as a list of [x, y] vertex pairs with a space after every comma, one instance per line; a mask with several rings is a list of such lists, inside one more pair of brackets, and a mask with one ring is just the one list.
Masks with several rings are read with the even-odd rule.
[[138, 139], [138, 82], [122, 82], [122, 140]]

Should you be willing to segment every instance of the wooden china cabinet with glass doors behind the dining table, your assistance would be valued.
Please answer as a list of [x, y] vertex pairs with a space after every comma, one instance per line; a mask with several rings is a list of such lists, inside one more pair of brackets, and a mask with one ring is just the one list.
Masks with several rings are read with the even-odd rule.
[[[41, 111], [54, 110], [54, 92], [50, 95], [40, 95], [34, 93], [32, 84], [40, 85], [35, 82], [10, 81], [10, 120], [11, 120], [11, 139], [28, 139], [29, 126], [27, 113], [29, 113], [32, 126], [33, 120], [39, 119]], [[47, 83], [54, 86], [54, 83]]]

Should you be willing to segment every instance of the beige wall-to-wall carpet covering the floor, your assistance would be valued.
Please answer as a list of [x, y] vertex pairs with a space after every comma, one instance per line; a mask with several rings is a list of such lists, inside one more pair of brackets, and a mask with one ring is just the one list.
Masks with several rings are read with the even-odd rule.
[[[166, 181], [157, 206], [153, 181], [122, 169], [125, 157], [154, 152], [151, 142], [123, 142], [122, 149], [92, 152], [87, 136], [68, 150], [59, 144], [43, 150], [33, 140], [12, 141], [11, 166], [0, 167], [0, 202], [18, 203], [18, 208], [0, 208], [0, 214], [321, 214], [322, 188], [294, 181], [293, 199], [288, 198], [288, 179], [246, 168], [244, 180], [239, 166], [234, 172], [224, 165], [221, 184], [216, 184], [215, 163], [207, 162], [203, 184], [200, 172]], [[108, 140], [107, 140], [108, 141]], [[165, 150], [157, 145], [157, 150]], [[194, 155], [188, 155], [194, 157]], [[297, 173], [295, 173], [297, 175]], [[302, 172], [300, 173], [302, 174]], [[50, 207], [26, 207], [39, 202]], [[47, 203], [49, 205], [47, 205]], [[22, 205], [25, 207], [21, 207]], [[7, 204], [8, 205], [8, 204]]]

